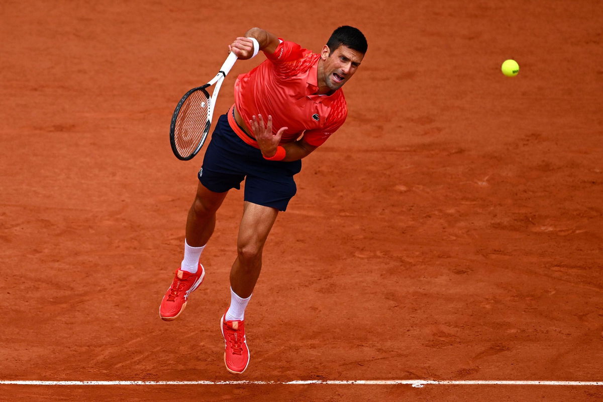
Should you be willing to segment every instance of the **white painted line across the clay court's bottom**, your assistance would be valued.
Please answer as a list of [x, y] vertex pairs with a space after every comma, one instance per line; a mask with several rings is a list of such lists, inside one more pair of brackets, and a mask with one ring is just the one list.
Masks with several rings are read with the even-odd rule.
[[298, 380], [298, 381], [0, 381], [0, 385], [411, 385], [422, 388], [425, 385], [566, 385], [603, 386], [603, 381], [497, 381], [497, 380]]

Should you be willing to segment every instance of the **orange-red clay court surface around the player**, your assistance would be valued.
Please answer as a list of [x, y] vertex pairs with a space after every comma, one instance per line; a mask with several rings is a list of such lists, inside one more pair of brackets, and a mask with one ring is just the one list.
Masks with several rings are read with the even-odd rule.
[[[2, 1], [0, 381], [603, 381], [598, 1]], [[218, 321], [242, 213], [174, 322], [201, 156], [175, 103], [259, 26], [320, 51], [367, 36], [349, 118], [303, 161], [245, 314]], [[507, 78], [505, 59], [521, 70]], [[216, 115], [232, 104], [239, 61]], [[202, 151], [203, 153], [203, 151]], [[589, 401], [603, 386], [0, 385], [0, 400]]]

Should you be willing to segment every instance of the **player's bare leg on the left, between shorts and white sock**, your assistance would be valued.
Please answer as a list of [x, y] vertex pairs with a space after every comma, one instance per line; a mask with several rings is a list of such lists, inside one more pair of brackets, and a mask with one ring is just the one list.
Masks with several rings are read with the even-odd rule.
[[186, 243], [189, 246], [204, 246], [212, 237], [216, 226], [216, 211], [222, 205], [226, 194], [228, 191], [215, 193], [199, 183], [195, 200], [186, 219]]

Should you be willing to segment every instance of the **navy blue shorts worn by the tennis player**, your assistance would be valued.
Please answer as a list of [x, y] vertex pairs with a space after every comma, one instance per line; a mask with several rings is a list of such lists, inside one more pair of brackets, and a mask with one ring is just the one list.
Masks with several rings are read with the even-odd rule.
[[245, 201], [285, 211], [297, 191], [294, 174], [301, 161], [267, 161], [259, 149], [245, 143], [230, 128], [227, 115], [221, 115], [207, 145], [198, 177], [215, 193], [239, 190], [245, 179]]

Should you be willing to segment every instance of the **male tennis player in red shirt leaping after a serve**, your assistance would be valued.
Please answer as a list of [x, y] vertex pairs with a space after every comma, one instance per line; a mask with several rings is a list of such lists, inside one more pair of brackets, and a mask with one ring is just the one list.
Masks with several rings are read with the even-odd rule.
[[224, 362], [240, 374], [249, 364], [245, 308], [262, 267], [265, 241], [279, 211], [295, 195], [301, 159], [323, 144], [346, 120], [341, 87], [367, 51], [356, 28], [333, 31], [319, 54], [260, 28], [236, 38], [230, 51], [239, 60], [258, 51], [266, 59], [235, 81], [235, 103], [219, 117], [198, 173], [197, 195], [188, 212], [184, 258], [163, 296], [159, 314], [178, 317], [203, 281], [201, 252], [213, 233], [216, 211], [232, 188], [245, 180], [244, 212], [237, 255], [230, 270], [230, 307], [221, 318]]

